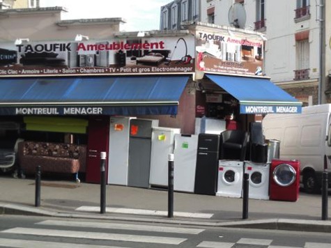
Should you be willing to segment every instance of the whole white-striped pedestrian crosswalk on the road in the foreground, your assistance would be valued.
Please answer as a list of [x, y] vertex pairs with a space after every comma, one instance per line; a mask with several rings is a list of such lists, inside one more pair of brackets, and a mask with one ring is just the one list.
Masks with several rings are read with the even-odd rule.
[[[30, 226], [15, 226], [0, 231], [0, 247], [16, 248], [326, 248], [331, 243], [305, 242], [301, 246], [279, 246], [272, 239], [229, 238], [210, 240], [204, 228], [156, 224], [113, 223], [46, 219]], [[208, 240], [209, 239], [209, 240]], [[231, 240], [232, 239], [232, 240]], [[78, 242], [77, 242], [78, 240]], [[231, 242], [229, 242], [231, 240]], [[192, 244], [192, 245], [191, 245]], [[303, 244], [303, 245], [302, 245]]]

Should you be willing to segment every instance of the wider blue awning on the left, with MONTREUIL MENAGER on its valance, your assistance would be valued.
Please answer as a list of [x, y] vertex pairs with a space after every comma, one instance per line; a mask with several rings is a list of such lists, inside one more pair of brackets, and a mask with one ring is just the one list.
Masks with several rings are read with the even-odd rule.
[[187, 75], [0, 79], [0, 114], [173, 115], [187, 80]]

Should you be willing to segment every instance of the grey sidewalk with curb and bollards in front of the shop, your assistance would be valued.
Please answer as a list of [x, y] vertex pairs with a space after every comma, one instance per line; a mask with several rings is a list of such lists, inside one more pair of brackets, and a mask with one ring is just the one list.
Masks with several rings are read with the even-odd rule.
[[331, 221], [321, 220], [321, 195], [300, 193], [296, 202], [249, 199], [248, 219], [243, 220], [243, 199], [175, 192], [174, 218], [167, 218], [167, 190], [107, 185], [105, 214], [100, 214], [100, 185], [42, 180], [38, 208], [35, 190], [33, 179], [1, 176], [0, 212], [331, 232]]

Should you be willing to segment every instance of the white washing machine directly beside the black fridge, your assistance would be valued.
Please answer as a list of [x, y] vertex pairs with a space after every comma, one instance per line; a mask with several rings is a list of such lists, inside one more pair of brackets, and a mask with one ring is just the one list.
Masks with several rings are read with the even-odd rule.
[[243, 192], [243, 163], [219, 160], [216, 196], [240, 198]]

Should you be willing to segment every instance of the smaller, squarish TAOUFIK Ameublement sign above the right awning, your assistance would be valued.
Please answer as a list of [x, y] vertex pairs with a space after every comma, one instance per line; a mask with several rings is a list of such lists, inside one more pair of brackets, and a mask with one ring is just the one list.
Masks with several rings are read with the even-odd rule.
[[263, 77], [263, 40], [257, 34], [197, 30], [197, 71]]

